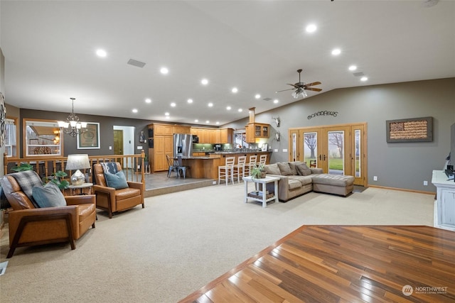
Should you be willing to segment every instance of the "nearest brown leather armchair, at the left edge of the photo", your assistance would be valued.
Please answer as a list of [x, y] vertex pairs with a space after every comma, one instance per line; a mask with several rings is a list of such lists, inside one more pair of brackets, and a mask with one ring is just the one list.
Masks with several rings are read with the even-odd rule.
[[[38, 175], [36, 177], [40, 180]], [[69, 241], [71, 249], [75, 249], [75, 240], [90, 226], [95, 228], [94, 194], [67, 196], [67, 206], [36, 208], [14, 177], [5, 175], [0, 183], [13, 208], [9, 211], [10, 248], [6, 258], [11, 258], [20, 246]]]

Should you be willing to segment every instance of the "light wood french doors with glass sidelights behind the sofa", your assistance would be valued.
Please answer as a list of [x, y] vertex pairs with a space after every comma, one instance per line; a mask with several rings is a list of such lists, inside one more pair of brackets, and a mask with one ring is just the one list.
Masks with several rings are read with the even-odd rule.
[[331, 175], [351, 175], [366, 183], [365, 123], [289, 130], [291, 160], [306, 162]]

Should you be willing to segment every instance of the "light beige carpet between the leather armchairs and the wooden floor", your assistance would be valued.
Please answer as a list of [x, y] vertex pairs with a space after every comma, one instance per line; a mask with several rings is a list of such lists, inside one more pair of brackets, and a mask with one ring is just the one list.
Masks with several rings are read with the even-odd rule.
[[[146, 199], [98, 213], [68, 244], [17, 248], [0, 277], [6, 302], [177, 302], [304, 224], [429, 225], [429, 194], [369, 188], [349, 197], [309, 193], [287, 203], [243, 203], [244, 185]], [[1, 238], [1, 262], [8, 237]]]

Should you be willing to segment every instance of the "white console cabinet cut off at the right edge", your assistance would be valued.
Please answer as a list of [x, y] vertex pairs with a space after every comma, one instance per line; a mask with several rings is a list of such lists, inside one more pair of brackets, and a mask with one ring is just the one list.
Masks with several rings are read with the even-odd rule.
[[433, 170], [432, 183], [437, 188], [434, 202], [434, 226], [455, 231], [455, 182], [446, 173]]

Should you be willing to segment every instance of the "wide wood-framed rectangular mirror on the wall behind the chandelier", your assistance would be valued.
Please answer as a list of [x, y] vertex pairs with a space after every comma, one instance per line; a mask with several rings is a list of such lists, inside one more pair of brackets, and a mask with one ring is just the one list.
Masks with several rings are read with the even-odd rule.
[[63, 137], [57, 121], [23, 119], [25, 157], [63, 156]]

